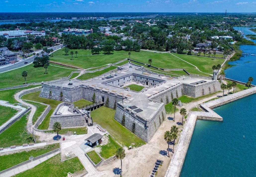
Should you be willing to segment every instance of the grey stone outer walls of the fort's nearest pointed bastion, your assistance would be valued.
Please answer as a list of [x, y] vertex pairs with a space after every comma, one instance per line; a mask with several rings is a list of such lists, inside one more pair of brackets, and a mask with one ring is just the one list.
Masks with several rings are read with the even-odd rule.
[[124, 107], [122, 102], [118, 102], [115, 120], [120, 124], [122, 124], [123, 115], [125, 117], [124, 126], [148, 143], [162, 124], [166, 113], [164, 104], [161, 103], [157, 110], [148, 119], [145, 119], [129, 107]]

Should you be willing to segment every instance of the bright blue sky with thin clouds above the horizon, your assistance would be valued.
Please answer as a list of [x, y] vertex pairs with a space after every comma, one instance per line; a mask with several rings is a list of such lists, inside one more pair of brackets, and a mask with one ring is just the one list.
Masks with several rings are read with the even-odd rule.
[[0, 0], [1, 12], [255, 12], [256, 0]]

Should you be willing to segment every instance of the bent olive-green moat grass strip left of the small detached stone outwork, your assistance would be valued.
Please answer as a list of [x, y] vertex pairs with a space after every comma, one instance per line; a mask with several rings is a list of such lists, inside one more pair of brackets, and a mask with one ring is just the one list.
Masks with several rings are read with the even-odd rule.
[[42, 123], [38, 126], [38, 129], [45, 130], [45, 129], [48, 129], [51, 114], [54, 112], [54, 109], [58, 106], [58, 104], [61, 103], [61, 101], [47, 99], [47, 98], [41, 98], [41, 97], [39, 97], [39, 94], [40, 94], [40, 92], [28, 93], [26, 95], [23, 95], [21, 98], [31, 100], [31, 101], [40, 102], [40, 103], [45, 103], [45, 104], [48, 104], [51, 106], [49, 113], [46, 115], [46, 117], [44, 118]]

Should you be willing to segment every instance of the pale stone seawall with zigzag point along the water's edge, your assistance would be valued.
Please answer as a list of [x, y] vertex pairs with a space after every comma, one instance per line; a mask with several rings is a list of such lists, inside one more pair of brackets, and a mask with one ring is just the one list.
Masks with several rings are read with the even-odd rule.
[[256, 87], [246, 89], [208, 103], [201, 104], [200, 107], [206, 112], [192, 111], [187, 116], [186, 124], [183, 128], [182, 134], [180, 135], [176, 151], [173, 154], [173, 158], [170, 161], [169, 167], [166, 171], [165, 177], [179, 177], [182, 170], [182, 165], [186, 157], [188, 146], [193, 135], [193, 131], [196, 125], [197, 119], [204, 120], [219, 120], [222, 121], [222, 117], [215, 113], [212, 109], [237, 99], [249, 96], [256, 93]]

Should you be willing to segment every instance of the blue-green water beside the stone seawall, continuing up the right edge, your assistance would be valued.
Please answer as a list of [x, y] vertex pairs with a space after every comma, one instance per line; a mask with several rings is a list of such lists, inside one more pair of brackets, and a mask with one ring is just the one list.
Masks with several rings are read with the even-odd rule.
[[[255, 34], [249, 28], [243, 31]], [[256, 53], [253, 45], [241, 45], [240, 49]], [[256, 56], [242, 56], [229, 64], [233, 66], [225, 70], [227, 78], [256, 79]], [[256, 176], [255, 104], [256, 94], [215, 108], [223, 122], [197, 120], [180, 177]]]

